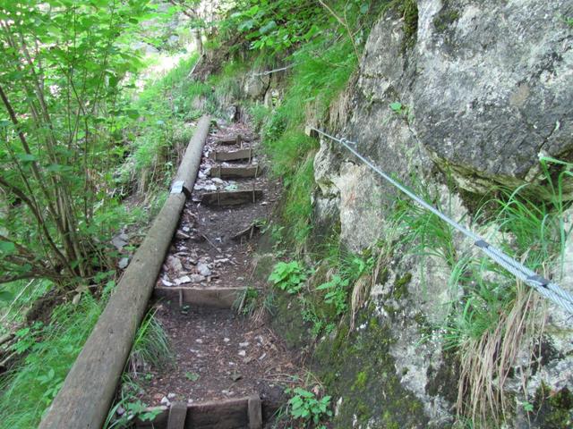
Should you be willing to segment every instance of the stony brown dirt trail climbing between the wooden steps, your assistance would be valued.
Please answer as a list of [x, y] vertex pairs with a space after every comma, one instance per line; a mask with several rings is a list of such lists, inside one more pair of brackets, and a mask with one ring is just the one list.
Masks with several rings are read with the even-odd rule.
[[[252, 286], [254, 245], [249, 230], [256, 221], [269, 217], [280, 191], [277, 181], [265, 174], [256, 179], [226, 180], [210, 176], [218, 165], [259, 165], [260, 157], [220, 163], [213, 152], [235, 151], [239, 145], [218, 144], [217, 140], [241, 134], [243, 148], [257, 154], [257, 139], [242, 123], [211, 130], [192, 198], [189, 199], [175, 239], [159, 274], [156, 290], [167, 298], [158, 299], [158, 321], [164, 327], [175, 353], [173, 366], [150, 368], [150, 383], [141, 400], [150, 406], [177, 401], [198, 403], [259, 394], [261, 400], [277, 404], [284, 385], [299, 369], [294, 357], [261, 321], [237, 315], [229, 308], [202, 307], [180, 302], [175, 288], [193, 290], [243, 289]], [[239, 206], [207, 206], [206, 193], [234, 190], [262, 190], [262, 198]], [[240, 231], [244, 237], [234, 240]], [[185, 289], [186, 290], [186, 289]], [[173, 292], [173, 293], [169, 293]], [[184, 304], [181, 306], [181, 304]]]

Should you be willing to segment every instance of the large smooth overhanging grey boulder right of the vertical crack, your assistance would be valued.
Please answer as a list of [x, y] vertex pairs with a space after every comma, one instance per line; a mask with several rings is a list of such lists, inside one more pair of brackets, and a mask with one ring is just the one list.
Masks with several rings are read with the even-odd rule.
[[426, 0], [419, 11], [415, 130], [439, 164], [483, 191], [533, 179], [538, 154], [571, 160], [573, 32], [560, 18], [571, 2]]

